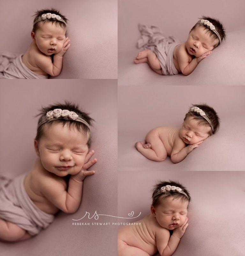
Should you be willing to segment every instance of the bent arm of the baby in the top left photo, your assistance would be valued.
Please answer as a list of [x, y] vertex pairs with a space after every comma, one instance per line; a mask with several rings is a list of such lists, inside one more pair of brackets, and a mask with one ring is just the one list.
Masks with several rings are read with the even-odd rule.
[[70, 39], [66, 37], [62, 50], [54, 54], [54, 63], [52, 63], [51, 58], [47, 58], [47, 56], [44, 56], [41, 54], [38, 55], [38, 58], [36, 60], [37, 66], [50, 76], [58, 76], [62, 69], [63, 55], [71, 45], [71, 44], [68, 44], [69, 42], [70, 42]]

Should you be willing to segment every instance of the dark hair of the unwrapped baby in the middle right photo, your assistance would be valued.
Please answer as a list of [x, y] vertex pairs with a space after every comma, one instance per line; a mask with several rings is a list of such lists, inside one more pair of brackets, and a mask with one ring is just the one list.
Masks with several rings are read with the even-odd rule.
[[[200, 108], [205, 112], [206, 116], [208, 117], [208, 119], [210, 120], [210, 122], [213, 126], [213, 132], [212, 132], [212, 130], [210, 130], [209, 135], [211, 136], [211, 135], [215, 134], [217, 132], [217, 130], [219, 129], [219, 116], [216, 113], [216, 111], [204, 103], [202, 103], [200, 105], [192, 104], [192, 106]], [[199, 113], [197, 113], [197, 112], [191, 112], [191, 111], [187, 112], [185, 115], [184, 121], [186, 120], [186, 118], [188, 116], [192, 116], [192, 117], [194, 117], [193, 119], [198, 120], [198, 124], [204, 124], [204, 125], [210, 126], [208, 121], [206, 119], [204, 119], [202, 116], [200, 116]]]

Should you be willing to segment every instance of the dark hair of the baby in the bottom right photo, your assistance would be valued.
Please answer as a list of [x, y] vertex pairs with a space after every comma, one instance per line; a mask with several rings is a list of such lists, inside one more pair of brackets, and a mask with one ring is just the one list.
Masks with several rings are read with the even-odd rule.
[[[188, 198], [178, 192], [178, 191], [161, 191], [161, 188], [164, 186], [175, 186], [175, 187], [179, 187], [182, 189], [182, 191], [188, 196]], [[153, 189], [152, 189], [152, 206], [156, 207], [160, 204], [160, 201], [167, 197], [167, 196], [173, 196], [173, 199], [177, 199], [177, 198], [181, 198], [182, 202], [185, 202], [186, 200], [188, 200], [188, 202], [190, 202], [191, 198], [190, 198], [190, 194], [189, 191], [181, 184], [179, 183], [179, 181], [173, 181], [173, 180], [169, 180], [169, 181], [160, 181], [158, 184], [154, 185]]]

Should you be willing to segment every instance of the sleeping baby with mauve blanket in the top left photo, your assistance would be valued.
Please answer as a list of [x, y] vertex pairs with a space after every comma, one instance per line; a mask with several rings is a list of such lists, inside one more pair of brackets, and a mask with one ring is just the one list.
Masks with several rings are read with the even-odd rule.
[[0, 78], [47, 79], [58, 76], [63, 55], [70, 47], [67, 19], [55, 9], [37, 11], [31, 32], [32, 43], [24, 54], [0, 52]]

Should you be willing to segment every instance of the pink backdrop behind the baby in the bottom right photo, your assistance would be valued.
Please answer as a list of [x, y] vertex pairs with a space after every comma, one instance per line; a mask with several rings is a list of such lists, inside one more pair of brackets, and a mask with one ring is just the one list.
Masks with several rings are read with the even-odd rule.
[[[178, 180], [190, 192], [189, 226], [173, 256], [234, 255], [245, 252], [245, 172], [118, 172], [118, 216], [134, 211], [134, 222], [150, 213], [152, 186]], [[159, 256], [159, 254], [158, 254]]]

